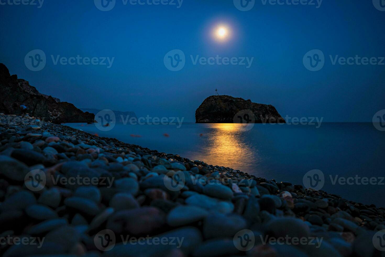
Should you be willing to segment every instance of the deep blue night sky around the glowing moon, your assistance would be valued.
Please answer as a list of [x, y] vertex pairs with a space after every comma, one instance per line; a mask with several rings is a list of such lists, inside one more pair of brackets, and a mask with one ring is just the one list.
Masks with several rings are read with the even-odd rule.
[[[124, 5], [116, 0], [107, 12], [93, 0], [45, 0], [41, 8], [9, 1], [0, 0], [5, 3], [0, 5], [0, 62], [40, 92], [78, 108], [195, 121], [196, 108], [216, 87], [219, 94], [273, 104], [284, 117], [370, 122], [385, 108], [384, 65], [332, 65], [329, 57], [385, 56], [385, 12], [371, 0], [324, 0], [320, 8], [316, 1], [311, 6], [256, 0], [246, 12], [233, 0], [184, 0], [180, 8], [177, 1]], [[227, 42], [212, 39], [210, 31], [218, 24], [231, 28]], [[41, 71], [30, 71], [24, 62], [34, 49], [47, 56]], [[186, 55], [181, 71], [164, 65], [165, 54], [173, 49]], [[320, 71], [303, 64], [312, 49], [325, 54]], [[115, 59], [107, 69], [54, 65], [51, 55]], [[247, 69], [193, 65], [190, 55], [254, 59]]]

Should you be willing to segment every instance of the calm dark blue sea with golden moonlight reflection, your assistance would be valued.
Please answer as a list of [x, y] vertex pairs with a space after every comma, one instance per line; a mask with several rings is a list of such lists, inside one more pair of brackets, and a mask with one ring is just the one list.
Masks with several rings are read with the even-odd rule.
[[172, 125], [124, 125], [110, 131], [94, 124], [67, 123], [72, 128], [130, 144], [178, 154], [191, 160], [231, 167], [276, 181], [303, 184], [307, 171], [325, 174], [322, 190], [348, 200], [385, 206], [382, 185], [333, 185], [335, 175], [348, 178], [385, 176], [385, 132], [372, 123], [322, 123], [310, 125], [183, 123]]

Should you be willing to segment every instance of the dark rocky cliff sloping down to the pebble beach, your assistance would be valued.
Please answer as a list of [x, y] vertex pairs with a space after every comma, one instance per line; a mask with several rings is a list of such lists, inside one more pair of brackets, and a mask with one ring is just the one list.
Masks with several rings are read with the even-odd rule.
[[28, 81], [10, 76], [7, 67], [0, 63], [0, 112], [18, 114], [20, 105], [29, 108], [30, 116], [53, 123], [94, 122], [94, 114], [84, 113], [69, 102], [40, 94]]

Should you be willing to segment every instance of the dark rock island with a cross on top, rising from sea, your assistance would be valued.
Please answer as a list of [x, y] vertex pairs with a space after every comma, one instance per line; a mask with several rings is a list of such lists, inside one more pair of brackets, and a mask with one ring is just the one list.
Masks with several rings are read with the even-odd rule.
[[272, 105], [232, 96], [209, 96], [195, 112], [196, 123], [285, 123]]

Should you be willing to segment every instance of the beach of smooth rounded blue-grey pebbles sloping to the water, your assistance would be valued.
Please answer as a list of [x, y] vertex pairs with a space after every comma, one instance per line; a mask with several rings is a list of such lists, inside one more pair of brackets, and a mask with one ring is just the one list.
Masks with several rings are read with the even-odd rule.
[[[298, 256], [362, 256], [363, 252], [372, 256], [378, 251], [372, 239], [385, 229], [384, 208], [28, 116], [19, 117], [26, 124], [12, 124], [9, 117], [17, 116], [0, 115], [0, 223], [14, 235], [40, 235], [52, 242], [33, 249], [36, 254], [41, 249], [55, 250], [64, 240], [71, 244], [59, 247], [58, 254], [239, 255], [245, 249], [238, 248], [235, 235], [243, 230], [252, 231], [255, 241], [259, 235], [323, 238], [318, 248], [286, 242], [285, 253]], [[25, 180], [32, 171], [32, 179]], [[46, 178], [42, 188], [41, 184], [33, 187], [35, 175]], [[69, 183], [79, 176], [81, 183]], [[175, 181], [176, 177], [181, 180]], [[85, 186], [84, 178], [98, 179], [95, 185]], [[102, 184], [102, 178], [109, 184]], [[117, 238], [108, 251], [92, 242], [105, 229]], [[186, 237], [185, 245], [159, 248], [127, 245], [118, 239], [118, 235], [146, 234], [181, 235]], [[281, 245], [254, 242], [253, 246], [248, 254], [285, 255]], [[25, 247], [7, 245], [4, 256], [18, 255], [27, 251]]]

